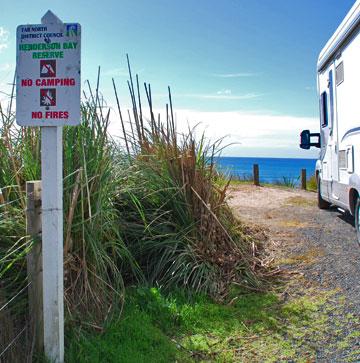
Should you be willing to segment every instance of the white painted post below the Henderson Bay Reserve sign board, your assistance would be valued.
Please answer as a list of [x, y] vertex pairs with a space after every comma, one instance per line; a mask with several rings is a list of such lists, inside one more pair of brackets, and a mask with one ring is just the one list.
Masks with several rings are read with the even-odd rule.
[[45, 355], [64, 361], [62, 127], [41, 128]]

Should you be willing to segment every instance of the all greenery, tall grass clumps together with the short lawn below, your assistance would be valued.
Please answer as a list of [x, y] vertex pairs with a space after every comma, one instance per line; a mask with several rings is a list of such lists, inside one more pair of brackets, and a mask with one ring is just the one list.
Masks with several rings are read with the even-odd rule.
[[[326, 298], [286, 302], [265, 291], [259, 234], [225, 202], [230, 181], [215, 166], [220, 142], [177, 133], [170, 90], [162, 122], [144, 85], [145, 117], [138, 77], [134, 86], [129, 76], [127, 120], [113, 82], [120, 143], [108, 133], [100, 70], [96, 90], [88, 84], [84, 92], [82, 124], [64, 128], [66, 360], [312, 357], [295, 337], [306, 335], [303, 321], [322, 319]], [[26, 235], [25, 183], [40, 179], [41, 135], [16, 126], [13, 99], [0, 105], [0, 347], [14, 344], [0, 358], [25, 361], [33, 353], [26, 254], [39, 243]]]

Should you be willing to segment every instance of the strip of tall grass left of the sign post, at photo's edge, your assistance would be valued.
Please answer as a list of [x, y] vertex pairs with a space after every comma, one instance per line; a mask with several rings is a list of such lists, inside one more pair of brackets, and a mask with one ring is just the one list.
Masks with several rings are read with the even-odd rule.
[[[24, 139], [34, 130], [13, 127], [13, 97], [0, 104], [0, 361], [25, 361], [30, 345], [27, 325], [26, 254], [31, 241], [25, 237], [25, 178], [32, 145]], [[14, 342], [10, 345], [11, 342]]]

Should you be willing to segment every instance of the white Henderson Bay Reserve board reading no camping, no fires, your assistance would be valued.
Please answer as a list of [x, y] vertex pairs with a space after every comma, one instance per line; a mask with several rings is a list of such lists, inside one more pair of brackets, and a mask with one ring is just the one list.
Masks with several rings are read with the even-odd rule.
[[80, 24], [19, 25], [16, 121], [20, 126], [80, 123]]

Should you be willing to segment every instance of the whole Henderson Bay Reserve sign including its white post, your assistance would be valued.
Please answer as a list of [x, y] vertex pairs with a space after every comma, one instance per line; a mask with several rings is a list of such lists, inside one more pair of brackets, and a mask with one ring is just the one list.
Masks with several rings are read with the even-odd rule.
[[41, 127], [44, 349], [64, 361], [62, 127], [80, 123], [79, 24], [51, 11], [17, 28], [16, 121]]

